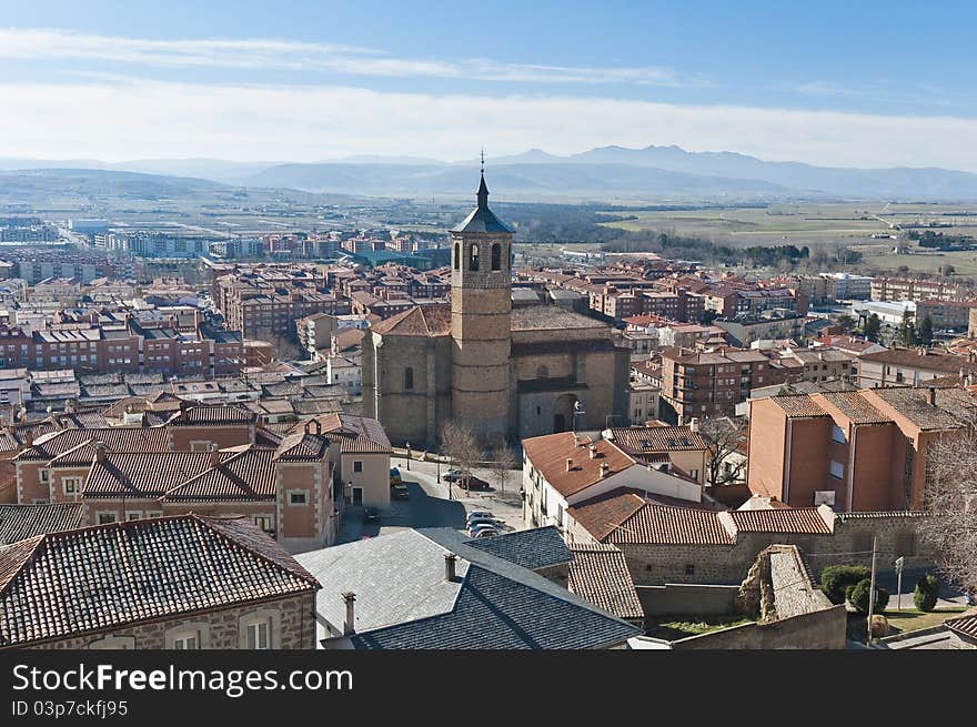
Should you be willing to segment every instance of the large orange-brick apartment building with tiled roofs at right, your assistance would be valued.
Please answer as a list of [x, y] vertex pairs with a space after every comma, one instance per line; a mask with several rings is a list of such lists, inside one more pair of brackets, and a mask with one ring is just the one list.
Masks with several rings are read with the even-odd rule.
[[751, 492], [793, 507], [921, 509], [928, 447], [974, 421], [960, 388], [873, 388], [753, 400]]

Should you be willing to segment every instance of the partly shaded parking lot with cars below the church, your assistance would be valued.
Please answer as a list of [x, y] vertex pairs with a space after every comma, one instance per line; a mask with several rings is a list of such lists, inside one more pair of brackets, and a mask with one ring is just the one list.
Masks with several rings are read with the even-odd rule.
[[[506, 482], [506, 491], [465, 493], [460, 485], [437, 482], [437, 466], [431, 462], [411, 461], [406, 468], [403, 457], [393, 457], [391, 466], [401, 472], [407, 486], [407, 499], [391, 499], [389, 508], [382, 508], [380, 523], [364, 523], [362, 507], [346, 507], [339, 543], [351, 543], [363, 537], [376, 537], [396, 533], [409, 527], [453, 527], [465, 529], [465, 518], [474, 509], [484, 509], [502, 521], [503, 532], [525, 529], [522, 521], [522, 501], [518, 497], [521, 473], [513, 471]], [[441, 467], [441, 474], [446, 471]], [[475, 471], [475, 475], [495, 485], [491, 473]], [[497, 486], [497, 485], [496, 485]], [[449, 491], [450, 487], [450, 491]]]

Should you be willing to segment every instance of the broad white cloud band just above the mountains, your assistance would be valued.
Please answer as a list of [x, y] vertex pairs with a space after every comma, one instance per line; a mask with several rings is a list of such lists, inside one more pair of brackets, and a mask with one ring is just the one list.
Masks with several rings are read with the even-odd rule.
[[977, 172], [977, 120], [602, 98], [432, 95], [342, 87], [131, 81], [0, 84], [0, 156], [315, 161], [357, 153], [473, 159], [542, 147], [678, 144], [822, 165]]

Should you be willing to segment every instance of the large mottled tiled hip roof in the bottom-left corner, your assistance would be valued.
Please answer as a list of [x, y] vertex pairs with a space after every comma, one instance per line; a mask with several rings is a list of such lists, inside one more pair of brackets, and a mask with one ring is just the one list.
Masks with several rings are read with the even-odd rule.
[[183, 515], [40, 535], [0, 547], [0, 646], [316, 588], [315, 578], [243, 519]]

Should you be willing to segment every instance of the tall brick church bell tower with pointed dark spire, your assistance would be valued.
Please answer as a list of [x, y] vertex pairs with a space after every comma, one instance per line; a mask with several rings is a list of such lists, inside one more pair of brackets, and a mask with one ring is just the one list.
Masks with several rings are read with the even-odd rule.
[[451, 230], [451, 415], [490, 441], [508, 431], [514, 230], [488, 209], [484, 154], [476, 198]]

